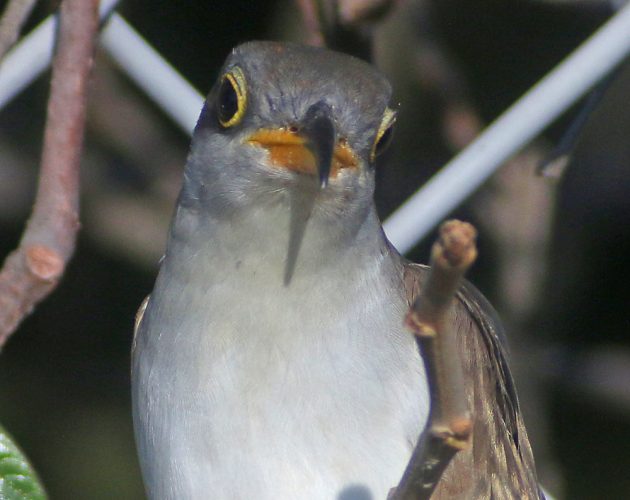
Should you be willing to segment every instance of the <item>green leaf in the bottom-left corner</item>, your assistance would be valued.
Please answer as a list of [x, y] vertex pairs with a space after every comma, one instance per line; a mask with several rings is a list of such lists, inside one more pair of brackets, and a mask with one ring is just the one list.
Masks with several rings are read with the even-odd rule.
[[46, 493], [37, 474], [0, 426], [0, 500], [44, 500]]

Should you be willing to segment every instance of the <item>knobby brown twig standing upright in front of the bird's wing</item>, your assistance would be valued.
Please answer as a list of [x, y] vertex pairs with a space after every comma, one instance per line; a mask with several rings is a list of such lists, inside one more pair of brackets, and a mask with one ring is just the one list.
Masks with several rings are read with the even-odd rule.
[[431, 251], [431, 271], [406, 318], [418, 337], [427, 372], [429, 420], [391, 500], [431, 497], [455, 453], [468, 446], [472, 418], [466, 404], [457, 332], [449, 312], [466, 270], [477, 256], [476, 231], [457, 220], [440, 227]]

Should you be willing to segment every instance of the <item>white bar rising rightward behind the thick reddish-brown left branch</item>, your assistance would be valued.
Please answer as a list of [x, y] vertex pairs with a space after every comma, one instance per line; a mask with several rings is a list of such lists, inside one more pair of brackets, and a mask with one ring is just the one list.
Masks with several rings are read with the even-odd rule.
[[[104, 19], [120, 0], [102, 0], [99, 15]], [[52, 60], [57, 16], [48, 16], [11, 49], [0, 63], [0, 109], [22, 92]]]

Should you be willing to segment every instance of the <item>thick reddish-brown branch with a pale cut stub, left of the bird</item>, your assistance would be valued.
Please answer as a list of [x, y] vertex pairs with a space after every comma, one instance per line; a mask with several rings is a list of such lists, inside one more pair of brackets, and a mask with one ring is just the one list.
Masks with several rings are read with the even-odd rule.
[[64, 0], [60, 14], [35, 206], [0, 271], [0, 348], [59, 283], [79, 228], [79, 158], [98, 0]]

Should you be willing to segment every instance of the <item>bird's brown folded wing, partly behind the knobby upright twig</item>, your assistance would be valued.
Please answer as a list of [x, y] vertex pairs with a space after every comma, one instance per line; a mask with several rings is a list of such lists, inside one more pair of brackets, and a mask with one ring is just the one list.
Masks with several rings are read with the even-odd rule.
[[[405, 264], [410, 305], [427, 275], [427, 266]], [[543, 498], [494, 309], [466, 283], [451, 315], [460, 340], [473, 436], [469, 449], [455, 455], [431, 498]]]

